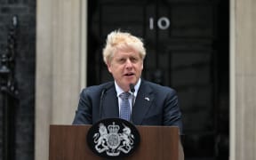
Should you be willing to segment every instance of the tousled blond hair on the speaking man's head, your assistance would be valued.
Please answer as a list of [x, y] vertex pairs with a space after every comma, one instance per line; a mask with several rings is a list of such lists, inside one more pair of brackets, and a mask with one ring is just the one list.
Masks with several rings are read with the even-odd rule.
[[132, 36], [128, 32], [121, 32], [120, 30], [112, 31], [108, 34], [106, 46], [103, 49], [103, 60], [108, 64], [117, 49], [132, 48], [140, 53], [140, 58], [144, 60], [146, 56], [146, 49], [142, 39], [137, 36]]

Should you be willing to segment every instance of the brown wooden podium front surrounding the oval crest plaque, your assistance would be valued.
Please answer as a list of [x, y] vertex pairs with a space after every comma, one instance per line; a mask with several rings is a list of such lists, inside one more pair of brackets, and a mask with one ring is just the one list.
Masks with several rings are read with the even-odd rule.
[[[100, 160], [87, 146], [86, 135], [92, 125], [50, 125], [49, 160]], [[179, 128], [172, 126], [136, 126], [140, 145], [122, 159], [178, 160]]]

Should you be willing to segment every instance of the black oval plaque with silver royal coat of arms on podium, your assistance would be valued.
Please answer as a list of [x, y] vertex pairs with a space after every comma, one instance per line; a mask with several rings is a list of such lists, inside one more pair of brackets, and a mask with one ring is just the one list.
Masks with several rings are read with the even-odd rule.
[[[107, 121], [104, 122], [104, 121]], [[92, 126], [93, 133], [89, 131], [88, 144], [92, 151], [99, 156], [119, 157], [131, 155], [137, 147], [140, 135], [134, 125], [118, 118], [101, 120]], [[92, 130], [91, 130], [92, 131]], [[88, 133], [88, 135], [89, 135]]]

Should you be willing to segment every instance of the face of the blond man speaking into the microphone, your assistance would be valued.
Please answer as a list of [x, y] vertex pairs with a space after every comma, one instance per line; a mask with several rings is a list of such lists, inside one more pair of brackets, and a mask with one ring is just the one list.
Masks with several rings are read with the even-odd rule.
[[143, 60], [140, 53], [132, 49], [116, 50], [112, 60], [108, 62], [108, 71], [124, 92], [130, 90], [130, 84], [137, 84], [142, 69]]

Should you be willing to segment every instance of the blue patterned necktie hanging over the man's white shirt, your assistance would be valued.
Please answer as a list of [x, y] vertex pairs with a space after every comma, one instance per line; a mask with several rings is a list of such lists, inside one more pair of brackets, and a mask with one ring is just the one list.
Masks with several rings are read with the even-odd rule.
[[122, 92], [119, 96], [122, 99], [120, 105], [120, 118], [130, 121], [131, 108], [129, 103], [130, 92]]

